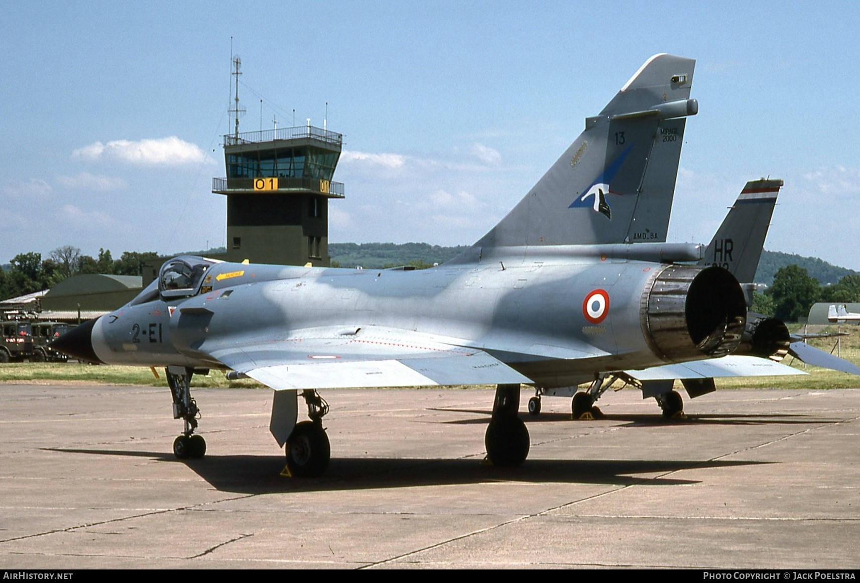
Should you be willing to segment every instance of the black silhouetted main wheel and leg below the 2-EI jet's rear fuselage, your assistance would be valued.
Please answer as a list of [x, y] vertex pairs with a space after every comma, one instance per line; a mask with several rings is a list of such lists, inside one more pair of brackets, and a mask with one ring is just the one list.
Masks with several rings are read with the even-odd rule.
[[493, 465], [517, 466], [529, 455], [529, 431], [519, 419], [519, 384], [495, 389], [493, 417], [484, 435], [487, 459]]

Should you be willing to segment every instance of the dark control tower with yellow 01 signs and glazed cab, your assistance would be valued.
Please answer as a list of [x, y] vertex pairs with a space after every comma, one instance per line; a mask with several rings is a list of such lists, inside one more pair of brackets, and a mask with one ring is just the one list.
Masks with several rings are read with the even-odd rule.
[[227, 261], [329, 265], [329, 199], [343, 137], [310, 126], [224, 136], [227, 177], [212, 193], [227, 197]]

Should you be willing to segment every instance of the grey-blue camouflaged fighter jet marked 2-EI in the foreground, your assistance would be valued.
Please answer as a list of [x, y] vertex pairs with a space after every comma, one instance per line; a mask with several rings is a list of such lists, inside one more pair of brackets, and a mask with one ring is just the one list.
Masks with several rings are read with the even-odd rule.
[[[694, 64], [649, 58], [513, 211], [439, 267], [177, 257], [138, 298], [54, 347], [166, 367], [174, 416], [185, 420], [177, 457], [206, 450], [194, 433], [195, 372], [229, 370], [266, 384], [275, 390], [270, 429], [293, 476], [317, 476], [329, 464], [329, 408], [317, 390], [495, 384], [487, 457], [518, 465], [529, 451], [517, 415], [522, 384], [571, 387], [727, 355], [730, 374], [793, 371], [732, 355], [746, 323], [737, 279], [690, 265], [701, 246], [663, 242], [685, 119], [698, 109]], [[299, 394], [310, 420], [297, 423]]]

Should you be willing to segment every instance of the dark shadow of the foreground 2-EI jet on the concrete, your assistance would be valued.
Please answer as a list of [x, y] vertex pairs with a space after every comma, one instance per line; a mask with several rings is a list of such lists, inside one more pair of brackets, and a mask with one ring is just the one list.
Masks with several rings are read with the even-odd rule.
[[[476, 457], [467, 459], [418, 459], [379, 457], [333, 457], [326, 474], [319, 478], [280, 476], [284, 458], [279, 456], [218, 456], [175, 459], [164, 451], [120, 451], [73, 448], [43, 448], [72, 454], [149, 457], [165, 463], [182, 463], [222, 492], [275, 494], [377, 488], [452, 486], [485, 482], [583, 483], [614, 486], [679, 486], [699, 483], [667, 477], [681, 469], [729, 468], [770, 462], [731, 460], [548, 460], [528, 459], [519, 468], [496, 468]], [[153, 471], [157, 469], [153, 468]]]

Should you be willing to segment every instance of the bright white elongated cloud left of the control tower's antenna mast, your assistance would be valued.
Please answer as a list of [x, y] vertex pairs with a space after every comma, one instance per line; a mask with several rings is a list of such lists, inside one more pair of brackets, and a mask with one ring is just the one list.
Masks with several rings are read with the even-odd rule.
[[136, 142], [127, 139], [117, 139], [107, 144], [95, 142], [72, 151], [71, 157], [94, 162], [119, 160], [144, 166], [180, 166], [212, 161], [196, 144], [175, 136], [141, 139]]

